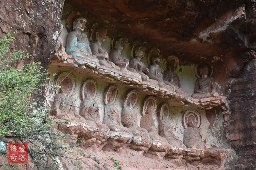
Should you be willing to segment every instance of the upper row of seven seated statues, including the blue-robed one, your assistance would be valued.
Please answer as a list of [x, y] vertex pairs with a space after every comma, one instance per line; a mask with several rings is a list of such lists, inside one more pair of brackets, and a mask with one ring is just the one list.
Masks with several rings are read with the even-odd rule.
[[[130, 61], [122, 54], [128, 43], [127, 38], [119, 38], [114, 41], [114, 49], [108, 54], [102, 46], [105, 41], [107, 30], [104, 27], [98, 27], [95, 31], [95, 40], [89, 44], [87, 35], [83, 32], [86, 19], [78, 17], [73, 22], [73, 31], [69, 32], [66, 41], [66, 53], [72, 56], [86, 57], [99, 62], [100, 65], [114, 68], [116, 70], [126, 70], [127, 72], [139, 73], [143, 81], [150, 81], [161, 87], [173, 89], [176, 93], [185, 97], [190, 97], [189, 92], [184, 91], [180, 85], [179, 77], [174, 73], [175, 66], [172, 61], [167, 63], [167, 71], [159, 67], [161, 63], [160, 50], [155, 48], [151, 50], [151, 65], [149, 68], [141, 61], [145, 57], [146, 48], [142, 45], [135, 46], [134, 58]], [[219, 95], [216, 92], [214, 79], [209, 76], [209, 66], [201, 65], [199, 68], [200, 78], [196, 80], [195, 91], [191, 97], [205, 98]], [[128, 71], [129, 70], [129, 71]]]

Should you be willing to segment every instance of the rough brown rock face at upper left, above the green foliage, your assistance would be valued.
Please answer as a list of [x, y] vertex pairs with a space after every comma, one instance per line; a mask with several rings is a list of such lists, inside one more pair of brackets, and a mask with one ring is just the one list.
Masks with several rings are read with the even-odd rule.
[[[63, 5], [64, 0], [0, 1], [0, 36], [10, 31], [18, 32], [11, 50], [31, 54], [31, 58], [20, 61], [16, 67], [35, 61], [47, 69], [58, 40]], [[41, 90], [44, 93], [44, 89]], [[45, 98], [36, 96], [35, 101], [44, 106]]]

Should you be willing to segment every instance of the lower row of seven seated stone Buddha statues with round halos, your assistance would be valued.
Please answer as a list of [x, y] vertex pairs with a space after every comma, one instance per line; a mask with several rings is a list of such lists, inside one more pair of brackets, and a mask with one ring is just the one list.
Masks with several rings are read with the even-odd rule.
[[[195, 114], [185, 116], [184, 141], [175, 137], [169, 122], [169, 105], [162, 103], [158, 106], [157, 117], [159, 120], [158, 130], [153, 116], [156, 111], [156, 99], [153, 96], [146, 97], [142, 104], [142, 117], [140, 126], [137, 121], [137, 111], [134, 106], [138, 100], [138, 92], [130, 89], [126, 92], [122, 102], [121, 119], [119, 110], [114, 106], [118, 88], [114, 84], [106, 86], [103, 93], [104, 116], [100, 121], [98, 101], [95, 101], [97, 84], [93, 79], [87, 79], [81, 86], [81, 103], [76, 111], [76, 100], [73, 98], [74, 83], [69, 74], [61, 73], [56, 83], [61, 86], [56, 92], [52, 104], [52, 114], [58, 119], [71, 119], [75, 122], [84, 122], [87, 126], [100, 128], [101, 130], [119, 129], [122, 133], [131, 133], [134, 137], [148, 138], [148, 140], [169, 143], [177, 148], [204, 148], [207, 145], [202, 141], [198, 128], [198, 118]], [[149, 143], [149, 142], [148, 142]], [[143, 144], [145, 145], [145, 144]], [[148, 145], [148, 144], [147, 144]]]

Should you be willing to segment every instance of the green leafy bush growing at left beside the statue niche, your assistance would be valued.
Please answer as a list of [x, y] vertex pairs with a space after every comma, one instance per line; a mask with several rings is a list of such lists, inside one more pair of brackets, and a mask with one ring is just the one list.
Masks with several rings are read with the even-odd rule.
[[29, 143], [33, 168], [57, 169], [56, 156], [69, 150], [62, 145], [66, 135], [56, 132], [47, 111], [29, 100], [44, 86], [39, 82], [45, 81], [47, 73], [40, 71], [38, 62], [21, 69], [12, 67], [18, 60], [29, 57], [26, 51], [8, 52], [13, 40], [11, 33], [0, 40], [0, 139]]

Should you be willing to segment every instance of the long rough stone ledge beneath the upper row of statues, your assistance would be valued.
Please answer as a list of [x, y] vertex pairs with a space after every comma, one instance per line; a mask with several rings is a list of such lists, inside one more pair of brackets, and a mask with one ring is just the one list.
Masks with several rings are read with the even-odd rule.
[[193, 99], [184, 97], [182, 94], [174, 92], [171, 88], [161, 87], [150, 81], [142, 81], [140, 74], [128, 70], [116, 70], [100, 65], [97, 61], [90, 58], [67, 55], [65, 60], [53, 56], [50, 65], [58, 67], [76, 67], [79, 71], [90, 75], [101, 81], [116, 83], [122, 87], [136, 89], [147, 95], [154, 95], [158, 100], [167, 100], [172, 106], [190, 106], [196, 105], [200, 110], [209, 110], [213, 107], [220, 107], [222, 110], [228, 110], [227, 98], [224, 96], [209, 97], [204, 99]]

